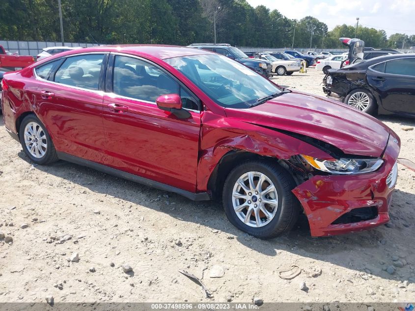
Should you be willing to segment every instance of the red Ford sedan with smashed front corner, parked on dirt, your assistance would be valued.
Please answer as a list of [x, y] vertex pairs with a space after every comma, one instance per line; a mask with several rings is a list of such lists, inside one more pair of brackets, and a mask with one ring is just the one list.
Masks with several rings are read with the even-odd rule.
[[396, 134], [228, 57], [87, 48], [6, 73], [2, 90], [6, 129], [33, 163], [62, 159], [193, 200], [222, 198], [230, 222], [260, 238], [301, 213], [313, 236], [389, 220]]

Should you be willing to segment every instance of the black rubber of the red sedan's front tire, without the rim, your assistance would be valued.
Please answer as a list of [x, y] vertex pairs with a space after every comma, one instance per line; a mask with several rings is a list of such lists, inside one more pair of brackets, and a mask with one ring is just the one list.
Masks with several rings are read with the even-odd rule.
[[[233, 187], [237, 179], [246, 173], [247, 171], [258, 171], [265, 174], [271, 181], [274, 183], [274, 186], [277, 190], [278, 195], [278, 208], [277, 213], [274, 216], [273, 220], [266, 226], [263, 227], [250, 227], [245, 225], [236, 215], [233, 209], [232, 203], [232, 192]], [[250, 235], [253, 235], [258, 238], [268, 239], [273, 238], [285, 231], [288, 231], [290, 227], [280, 228], [282, 215], [286, 211], [286, 209], [292, 207], [288, 206], [287, 203], [287, 196], [290, 197], [289, 201], [291, 204], [295, 204], [294, 195], [291, 193], [291, 190], [287, 193], [284, 191], [283, 183], [289, 183], [290, 189], [294, 188], [294, 181], [291, 178], [288, 178], [287, 172], [284, 169], [277, 167], [275, 165], [270, 166], [267, 164], [261, 164], [260, 162], [251, 162], [245, 163], [230, 172], [228, 177], [226, 178], [225, 185], [223, 187], [223, 206], [225, 209], [225, 214], [232, 225], [236, 226], [238, 229], [247, 232]], [[291, 176], [289, 176], [291, 177]], [[298, 213], [298, 211], [296, 211]]]

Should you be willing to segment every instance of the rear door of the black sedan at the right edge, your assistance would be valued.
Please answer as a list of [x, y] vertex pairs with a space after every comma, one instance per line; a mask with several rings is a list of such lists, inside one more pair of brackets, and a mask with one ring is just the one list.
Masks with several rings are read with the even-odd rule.
[[369, 67], [367, 82], [380, 94], [384, 109], [415, 114], [415, 57], [392, 59]]

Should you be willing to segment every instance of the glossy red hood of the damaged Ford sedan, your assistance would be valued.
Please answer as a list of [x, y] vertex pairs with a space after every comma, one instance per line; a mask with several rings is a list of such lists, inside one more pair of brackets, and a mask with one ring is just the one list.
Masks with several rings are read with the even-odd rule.
[[390, 129], [374, 117], [340, 102], [291, 92], [249, 109], [226, 108], [228, 117], [306, 135], [346, 154], [380, 157]]

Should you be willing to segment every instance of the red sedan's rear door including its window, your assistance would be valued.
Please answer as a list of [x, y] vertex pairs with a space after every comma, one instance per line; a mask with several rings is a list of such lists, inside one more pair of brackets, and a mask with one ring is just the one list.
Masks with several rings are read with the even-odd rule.
[[104, 53], [75, 55], [35, 71], [38, 115], [56, 149], [99, 163], [103, 162], [105, 147], [100, 79], [107, 58]]

